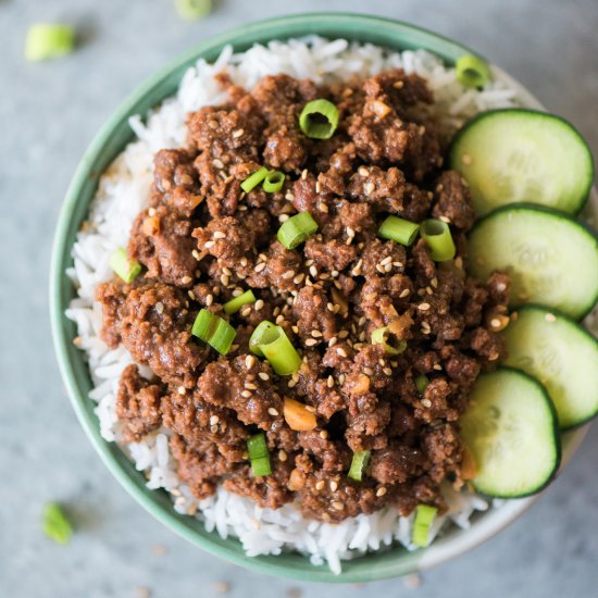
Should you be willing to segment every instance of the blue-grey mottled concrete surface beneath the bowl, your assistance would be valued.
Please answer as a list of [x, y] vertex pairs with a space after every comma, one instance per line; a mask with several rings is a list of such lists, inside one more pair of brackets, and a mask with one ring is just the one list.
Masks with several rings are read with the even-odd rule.
[[[0, 596], [155, 598], [444, 596], [589, 598], [598, 590], [598, 427], [537, 506], [496, 539], [426, 573], [365, 587], [297, 584], [216, 560], [153, 521], [110, 476], [68, 404], [51, 346], [48, 259], [75, 165], [100, 124], [140, 80], [199, 39], [257, 16], [353, 10], [461, 39], [571, 119], [598, 154], [596, 0], [222, 0], [184, 23], [172, 0], [0, 0]], [[80, 49], [23, 61], [27, 26], [66, 20]], [[40, 532], [47, 500], [72, 506], [78, 533]], [[292, 590], [298, 593], [292, 594]]]

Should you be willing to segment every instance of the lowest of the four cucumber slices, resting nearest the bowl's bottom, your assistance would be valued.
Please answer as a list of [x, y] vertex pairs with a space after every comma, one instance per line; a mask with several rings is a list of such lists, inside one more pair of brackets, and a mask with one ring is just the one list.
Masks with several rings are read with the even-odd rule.
[[519, 498], [541, 490], [561, 459], [555, 407], [544, 387], [527, 374], [501, 367], [482, 374], [461, 434], [476, 466], [475, 489]]

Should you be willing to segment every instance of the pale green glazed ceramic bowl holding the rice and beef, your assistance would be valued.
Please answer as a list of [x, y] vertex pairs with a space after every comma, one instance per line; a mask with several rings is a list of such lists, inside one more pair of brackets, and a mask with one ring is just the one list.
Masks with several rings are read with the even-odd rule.
[[[144, 83], [121, 104], [94, 139], [75, 173], [58, 222], [52, 253], [52, 333], [64, 383], [89, 439], [116, 479], [155, 519], [209, 552], [256, 571], [313, 582], [370, 582], [416, 572], [471, 549], [519, 516], [532, 500], [510, 501], [500, 509], [478, 515], [474, 518], [470, 530], [451, 531], [426, 550], [407, 552], [404, 549], [394, 548], [348, 561], [344, 564], [340, 575], [334, 575], [327, 566], [313, 566], [308, 559], [297, 553], [248, 558], [237, 540], [223, 540], [215, 532], [205, 532], [202, 524], [195, 519], [177, 514], [169, 496], [162, 490], [148, 490], [142, 473], [135, 470], [117, 446], [102, 439], [98, 420], [94, 414], [95, 403], [88, 398], [91, 382], [87, 365], [83, 353], [73, 346], [75, 326], [64, 316], [64, 310], [74, 295], [71, 282], [64, 274], [66, 267], [72, 265], [71, 248], [94, 198], [99, 177], [133, 139], [127, 119], [133, 114], [145, 114], [164, 98], [172, 96], [188, 66], [200, 57], [208, 61], [214, 60], [227, 43], [239, 51], [254, 42], [307, 34], [370, 41], [395, 50], [425, 48], [449, 64], [461, 54], [471, 53], [471, 50], [450, 39], [406, 23], [358, 14], [320, 13], [242, 25], [210, 38], [177, 58]], [[525, 101], [531, 105], [538, 105], [528, 95], [525, 95]], [[572, 454], [582, 436], [583, 432], [576, 432], [568, 438], [565, 460]]]

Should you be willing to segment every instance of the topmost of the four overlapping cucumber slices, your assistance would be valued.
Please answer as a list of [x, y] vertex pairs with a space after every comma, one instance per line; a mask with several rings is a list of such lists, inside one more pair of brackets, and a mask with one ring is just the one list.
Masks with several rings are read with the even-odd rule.
[[470, 185], [478, 214], [522, 201], [576, 214], [594, 180], [582, 135], [563, 119], [534, 110], [482, 113], [457, 134], [449, 162]]

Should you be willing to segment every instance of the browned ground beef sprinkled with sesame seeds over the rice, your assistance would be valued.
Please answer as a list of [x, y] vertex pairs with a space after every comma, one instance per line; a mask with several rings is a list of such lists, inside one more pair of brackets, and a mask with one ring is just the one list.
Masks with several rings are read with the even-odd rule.
[[[149, 209], [128, 252], [144, 273], [98, 289], [104, 340], [122, 342], [154, 379], [127, 367], [117, 397], [124, 441], [165, 426], [180, 479], [198, 498], [219, 484], [263, 507], [296, 501], [308, 518], [341, 521], [395, 504], [445, 508], [440, 485], [463, 484], [459, 416], [478, 373], [503, 356], [498, 329], [509, 278], [466, 274], [474, 223], [461, 176], [443, 171], [433, 102], [416, 75], [390, 71], [319, 87], [286, 75], [253, 90], [231, 85], [231, 101], [189, 115], [188, 144], [154, 161]], [[301, 132], [306, 102], [340, 110], [333, 138]], [[261, 165], [286, 174], [278, 192], [240, 184]], [[288, 250], [276, 232], [309, 211], [319, 231]], [[436, 263], [423, 240], [377, 237], [388, 214], [440, 217], [458, 253]], [[228, 316], [223, 304], [251, 288], [259, 299]], [[235, 344], [220, 356], [191, 336], [201, 308], [231, 322]], [[303, 363], [278, 376], [249, 352], [256, 326], [284, 327]], [[391, 326], [400, 354], [372, 345]], [[415, 378], [429, 384], [420, 394]], [[316, 418], [291, 429], [285, 400]], [[272, 474], [252, 477], [249, 436], [263, 432]], [[347, 476], [353, 452], [371, 451], [362, 482]]]

